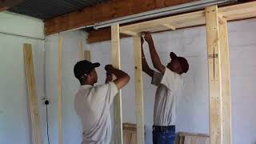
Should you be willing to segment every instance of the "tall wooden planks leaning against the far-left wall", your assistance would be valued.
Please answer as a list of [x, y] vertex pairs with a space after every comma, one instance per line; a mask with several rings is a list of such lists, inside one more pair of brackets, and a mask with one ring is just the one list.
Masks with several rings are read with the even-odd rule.
[[23, 47], [24, 63], [26, 71], [26, 86], [30, 105], [30, 117], [32, 124], [33, 143], [42, 144], [41, 127], [38, 114], [38, 97], [36, 94], [36, 84], [34, 78], [34, 64], [32, 48], [30, 44]]

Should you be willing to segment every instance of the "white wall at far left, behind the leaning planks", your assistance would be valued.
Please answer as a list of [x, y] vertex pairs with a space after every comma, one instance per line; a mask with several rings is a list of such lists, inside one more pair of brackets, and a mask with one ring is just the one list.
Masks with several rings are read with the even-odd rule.
[[[32, 44], [38, 104], [41, 106], [39, 114], [45, 114], [42, 101], [39, 100], [44, 96], [42, 77], [44, 42], [2, 34], [2, 32], [43, 38], [42, 26], [43, 22], [36, 18], [0, 13], [0, 143], [2, 144], [31, 143], [30, 111], [23, 61], [24, 43]], [[43, 115], [41, 116], [43, 118]], [[42, 120], [42, 127], [45, 126], [44, 124]]]

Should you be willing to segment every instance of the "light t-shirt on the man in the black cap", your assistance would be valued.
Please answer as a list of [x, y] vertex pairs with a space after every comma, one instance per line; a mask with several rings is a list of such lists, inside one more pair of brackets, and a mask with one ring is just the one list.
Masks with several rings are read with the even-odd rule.
[[74, 108], [82, 122], [82, 144], [109, 144], [111, 141], [110, 106], [118, 88], [114, 82], [100, 86], [80, 86]]

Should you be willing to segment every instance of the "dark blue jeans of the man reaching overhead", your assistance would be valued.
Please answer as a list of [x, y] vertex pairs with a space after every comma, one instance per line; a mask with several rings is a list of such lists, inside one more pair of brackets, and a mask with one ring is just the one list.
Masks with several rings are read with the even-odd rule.
[[154, 130], [153, 128], [153, 143], [154, 144], [174, 144], [175, 143], [175, 126], [168, 130]]

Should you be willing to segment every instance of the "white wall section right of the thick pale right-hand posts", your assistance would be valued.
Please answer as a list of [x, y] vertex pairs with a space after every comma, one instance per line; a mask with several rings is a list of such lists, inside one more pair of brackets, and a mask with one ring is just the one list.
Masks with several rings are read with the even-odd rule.
[[256, 19], [229, 26], [233, 143], [256, 144]]

